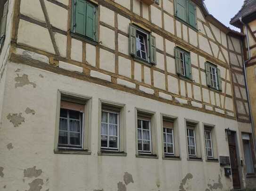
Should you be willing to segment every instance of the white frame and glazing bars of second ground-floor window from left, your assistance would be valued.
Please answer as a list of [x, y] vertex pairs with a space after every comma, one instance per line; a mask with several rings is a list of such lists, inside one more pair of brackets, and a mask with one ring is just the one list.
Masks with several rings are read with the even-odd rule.
[[[111, 110], [107, 110], [107, 109], [102, 109], [101, 113], [102, 112], [107, 113], [107, 123], [106, 122], [104, 122], [104, 123], [107, 124], [107, 134], [108, 135], [104, 135], [104, 136], [107, 136], [107, 147], [101, 146], [101, 136], [103, 134], [101, 132], [101, 126], [100, 126], [100, 148], [101, 148], [101, 150], [119, 152], [120, 151], [120, 133], [119, 133], [120, 132], [120, 112], [115, 112], [115, 111], [111, 111]], [[116, 114], [117, 115], [117, 136], [109, 135], [109, 125], [111, 124], [111, 123], [109, 123], [109, 114]], [[103, 123], [102, 118], [100, 120], [101, 120], [100, 124], [102, 124]], [[113, 125], [116, 125], [116, 124], [113, 124]], [[109, 147], [109, 137], [117, 137], [117, 148]]]

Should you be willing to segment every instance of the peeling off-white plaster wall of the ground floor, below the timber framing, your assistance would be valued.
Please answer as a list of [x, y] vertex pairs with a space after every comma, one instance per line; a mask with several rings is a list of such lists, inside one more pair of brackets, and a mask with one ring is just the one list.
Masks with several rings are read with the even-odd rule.
[[[19, 72], [15, 72], [17, 68], [20, 69]], [[35, 83], [36, 87], [25, 85], [15, 88], [14, 78], [17, 74], [28, 75], [28, 79]], [[39, 75], [43, 77], [38, 77]], [[53, 153], [58, 90], [92, 97], [91, 155]], [[6, 94], [8, 96], [5, 97], [3, 105], [5, 117], [2, 118], [0, 129], [0, 150], [2, 152], [0, 167], [4, 168], [4, 176], [0, 178], [0, 184], [6, 185], [8, 190], [29, 190], [28, 183], [35, 178], [24, 178], [23, 169], [33, 166], [42, 170], [42, 174], [37, 177], [43, 180], [42, 190], [104, 189], [113, 191], [117, 190], [117, 183], [124, 181], [124, 172], [129, 172], [134, 181], [126, 186], [128, 191], [156, 190], [157, 185], [160, 185], [161, 190], [177, 191], [182, 179], [188, 173], [191, 173], [193, 178], [188, 180], [185, 186], [191, 191], [206, 190], [208, 183], [217, 183], [219, 175], [223, 190], [231, 188], [231, 181], [223, 175], [223, 168], [220, 168], [218, 163], [205, 162], [202, 122], [215, 125], [218, 154], [226, 156], [229, 153], [224, 129], [229, 127], [237, 131], [238, 124], [234, 120], [160, 103], [156, 100], [14, 63], [8, 64]], [[125, 104], [126, 157], [98, 156], [97, 154], [99, 99]], [[35, 115], [26, 114], [26, 107], [34, 109]], [[135, 157], [135, 107], [156, 112], [158, 159]], [[6, 118], [9, 113], [22, 113], [25, 122], [15, 128]], [[162, 160], [160, 113], [178, 117], [177, 130], [182, 160]], [[187, 160], [184, 118], [199, 122], [200, 146], [204, 161]], [[8, 150], [6, 146], [9, 143], [13, 145], [11, 150]]]

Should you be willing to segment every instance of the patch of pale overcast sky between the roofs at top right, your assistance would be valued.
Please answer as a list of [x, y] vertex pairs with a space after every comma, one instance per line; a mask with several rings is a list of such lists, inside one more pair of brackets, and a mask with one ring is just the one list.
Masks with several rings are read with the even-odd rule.
[[243, 2], [244, 0], [205, 0], [206, 8], [210, 14], [236, 31], [239, 31], [239, 29], [230, 25], [229, 22], [230, 19], [238, 13]]

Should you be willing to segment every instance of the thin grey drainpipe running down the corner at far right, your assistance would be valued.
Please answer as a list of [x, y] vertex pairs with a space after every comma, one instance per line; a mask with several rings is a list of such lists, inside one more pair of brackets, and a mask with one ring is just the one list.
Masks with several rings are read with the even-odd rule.
[[249, 58], [247, 61], [244, 61], [243, 68], [244, 68], [244, 75], [245, 75], [246, 93], [247, 93], [247, 99], [248, 99], [248, 105], [249, 105], [248, 106], [249, 114], [250, 114], [250, 120], [251, 120], [251, 125], [252, 125], [252, 137], [253, 137], [254, 148], [256, 149], [254, 121], [253, 121], [253, 116], [252, 116], [252, 107], [251, 107], [251, 100], [250, 100], [250, 96], [249, 96], [248, 81], [247, 81], [247, 71], [246, 71], [246, 66], [245, 66], [246, 63], [251, 60], [251, 52], [250, 52], [250, 45], [249, 45], [249, 38], [248, 38], [248, 26], [247, 26], [247, 24], [245, 24], [242, 21], [242, 17], [240, 17], [239, 20], [245, 26], [245, 30], [246, 30], [246, 39], [247, 39]]

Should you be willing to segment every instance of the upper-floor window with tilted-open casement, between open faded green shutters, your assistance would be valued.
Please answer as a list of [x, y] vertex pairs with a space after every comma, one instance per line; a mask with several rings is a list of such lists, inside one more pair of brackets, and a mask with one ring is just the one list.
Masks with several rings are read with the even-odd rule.
[[156, 64], [156, 39], [149, 32], [130, 24], [130, 54], [136, 59]]

